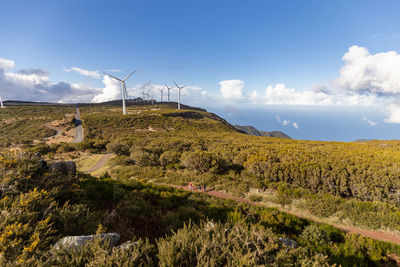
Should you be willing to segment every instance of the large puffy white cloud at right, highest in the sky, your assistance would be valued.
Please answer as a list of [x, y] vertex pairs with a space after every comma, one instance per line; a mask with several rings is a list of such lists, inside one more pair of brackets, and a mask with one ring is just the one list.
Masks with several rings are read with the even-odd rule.
[[360, 93], [400, 94], [400, 55], [394, 51], [371, 55], [365, 47], [352, 46], [343, 56], [337, 83]]

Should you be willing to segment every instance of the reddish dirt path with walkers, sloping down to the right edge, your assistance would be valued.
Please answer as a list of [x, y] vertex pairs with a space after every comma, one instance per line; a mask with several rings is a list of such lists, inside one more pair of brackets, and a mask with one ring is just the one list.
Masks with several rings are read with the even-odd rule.
[[[161, 184], [161, 185], [166, 185], [166, 186], [171, 186], [171, 187], [175, 187], [175, 188], [179, 188], [179, 189], [183, 189], [183, 190], [189, 190], [188, 186], [179, 186], [179, 185], [170, 185], [170, 184]], [[198, 190], [195, 190], [194, 192], [200, 193]], [[267, 206], [266, 204], [263, 204], [261, 202], [253, 202], [250, 201], [249, 199], [246, 198], [241, 198], [241, 197], [234, 197], [231, 194], [228, 193], [224, 193], [224, 192], [220, 192], [220, 191], [215, 191], [215, 190], [207, 190], [206, 192], [207, 195], [210, 196], [214, 196], [214, 197], [218, 197], [218, 198], [224, 198], [224, 199], [232, 199], [238, 202], [244, 202], [247, 204], [251, 204], [251, 205], [257, 205], [257, 206]], [[345, 226], [345, 225], [338, 225], [338, 224], [334, 224], [334, 223], [330, 223], [330, 222], [325, 222], [322, 220], [318, 220], [315, 218], [311, 218], [310, 216], [306, 216], [304, 214], [301, 213], [296, 213], [293, 211], [289, 211], [286, 209], [283, 209], [281, 207], [277, 207], [280, 211], [291, 214], [293, 216], [296, 217], [300, 217], [303, 219], [308, 219], [317, 223], [323, 223], [323, 224], [329, 224], [332, 225], [333, 227], [336, 227], [344, 232], [348, 232], [348, 233], [356, 233], [356, 234], [360, 234], [366, 237], [370, 237], [376, 240], [380, 240], [380, 241], [386, 241], [386, 242], [390, 242], [390, 243], [395, 243], [400, 245], [400, 236], [395, 235], [395, 234], [391, 234], [391, 233], [386, 233], [386, 232], [380, 232], [380, 231], [372, 231], [372, 230], [365, 230], [365, 229], [360, 229], [357, 227], [351, 227], [351, 226]]]

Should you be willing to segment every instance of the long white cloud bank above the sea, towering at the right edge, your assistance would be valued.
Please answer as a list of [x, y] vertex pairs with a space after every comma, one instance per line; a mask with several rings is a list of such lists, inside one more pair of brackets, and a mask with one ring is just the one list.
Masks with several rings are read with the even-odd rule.
[[340, 75], [330, 87], [317, 84], [297, 90], [278, 83], [246, 94], [243, 81], [230, 80], [220, 82], [221, 94], [238, 103], [382, 108], [388, 112], [386, 122], [400, 123], [396, 101], [400, 97], [400, 55], [394, 51], [371, 54], [365, 47], [352, 46], [342, 59]]

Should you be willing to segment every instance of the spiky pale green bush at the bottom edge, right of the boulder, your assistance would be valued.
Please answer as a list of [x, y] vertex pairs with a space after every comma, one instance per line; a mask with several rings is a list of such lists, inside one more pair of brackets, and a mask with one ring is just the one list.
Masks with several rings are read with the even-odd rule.
[[244, 222], [189, 223], [157, 245], [160, 266], [329, 265], [326, 256], [290, 250], [272, 232]]

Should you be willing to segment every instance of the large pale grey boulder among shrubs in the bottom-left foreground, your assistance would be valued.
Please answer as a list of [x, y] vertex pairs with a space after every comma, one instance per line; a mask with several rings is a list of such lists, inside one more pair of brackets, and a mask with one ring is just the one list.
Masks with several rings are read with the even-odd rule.
[[61, 238], [54, 246], [58, 249], [79, 249], [86, 242], [92, 241], [95, 238], [100, 238], [101, 241], [109, 242], [110, 247], [118, 244], [120, 236], [117, 233], [103, 233], [99, 235], [81, 235], [81, 236], [66, 236]]

